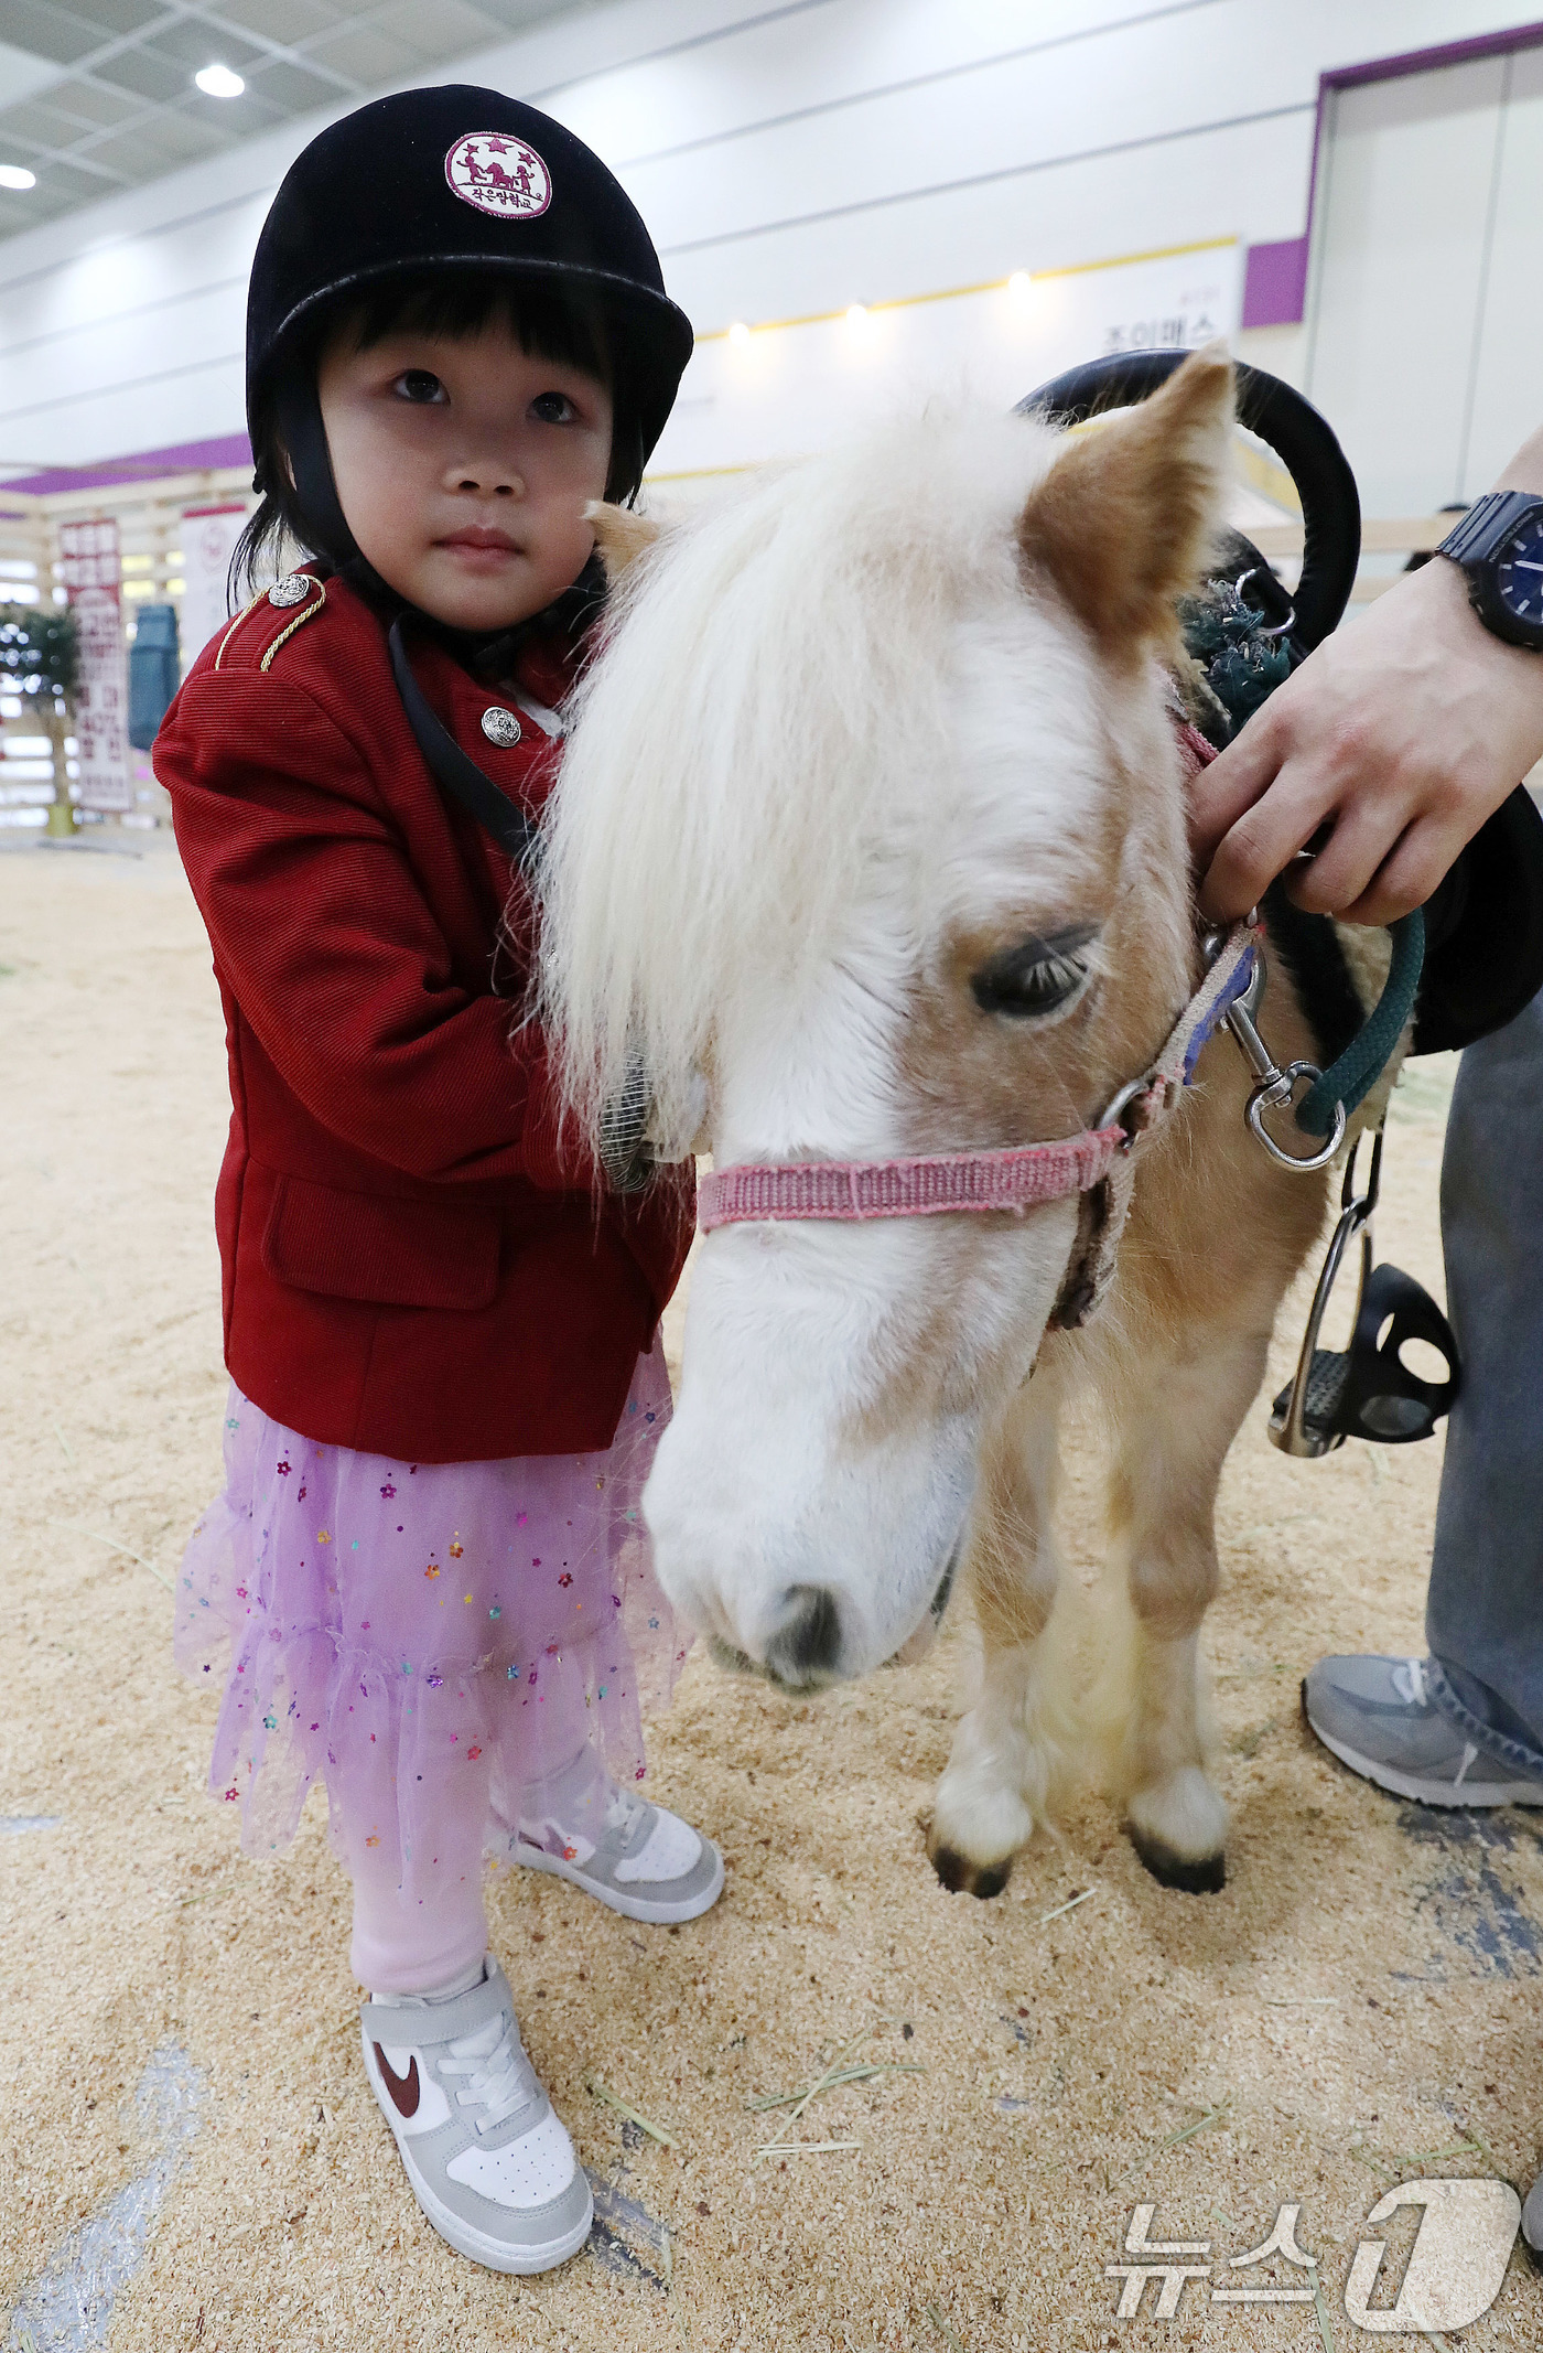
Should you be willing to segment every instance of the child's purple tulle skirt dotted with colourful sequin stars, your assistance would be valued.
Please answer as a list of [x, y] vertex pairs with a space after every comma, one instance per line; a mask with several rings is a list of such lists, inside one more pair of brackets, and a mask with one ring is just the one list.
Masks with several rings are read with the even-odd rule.
[[604, 1454], [398, 1464], [231, 1388], [176, 1664], [223, 1682], [209, 1788], [240, 1805], [249, 1854], [294, 1838], [320, 1774], [339, 1857], [395, 1849], [402, 1897], [430, 1901], [586, 1739], [642, 1779], [640, 1706], [684, 1659], [637, 1508], [668, 1417], [659, 1344]]

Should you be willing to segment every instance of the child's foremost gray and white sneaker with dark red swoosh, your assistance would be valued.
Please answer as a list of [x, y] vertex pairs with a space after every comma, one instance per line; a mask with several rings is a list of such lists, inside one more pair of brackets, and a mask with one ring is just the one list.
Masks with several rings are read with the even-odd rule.
[[489, 2271], [550, 2271], [590, 2235], [574, 2144], [525, 2057], [503, 1969], [449, 1995], [372, 1995], [365, 2073], [412, 2193], [456, 2254]]

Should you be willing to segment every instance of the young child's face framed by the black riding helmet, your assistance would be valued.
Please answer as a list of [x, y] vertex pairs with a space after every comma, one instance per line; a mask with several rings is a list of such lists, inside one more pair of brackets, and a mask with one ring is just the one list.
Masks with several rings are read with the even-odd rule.
[[339, 504], [398, 595], [452, 628], [508, 628], [583, 572], [604, 494], [612, 395], [520, 348], [508, 320], [475, 336], [343, 327], [318, 372]]

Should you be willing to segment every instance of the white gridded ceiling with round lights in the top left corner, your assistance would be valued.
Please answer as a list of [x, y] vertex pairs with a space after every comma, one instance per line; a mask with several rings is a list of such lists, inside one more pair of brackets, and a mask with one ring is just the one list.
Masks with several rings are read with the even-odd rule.
[[[216, 155], [318, 108], [343, 108], [487, 49], [586, 0], [0, 0], [0, 238]], [[240, 99], [207, 99], [200, 66]]]

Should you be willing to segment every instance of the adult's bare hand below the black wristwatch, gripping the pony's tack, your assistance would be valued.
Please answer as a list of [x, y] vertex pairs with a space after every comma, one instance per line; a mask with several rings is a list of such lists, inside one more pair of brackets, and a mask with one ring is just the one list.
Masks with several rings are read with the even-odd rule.
[[1392, 922], [1541, 758], [1543, 652], [1491, 638], [1437, 555], [1327, 638], [1195, 779], [1200, 906], [1244, 915], [1329, 826], [1291, 899]]

